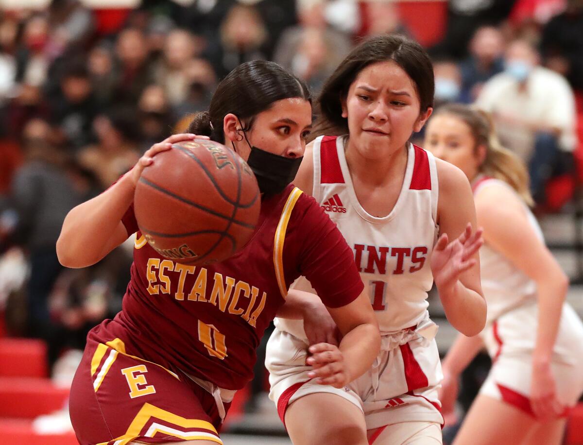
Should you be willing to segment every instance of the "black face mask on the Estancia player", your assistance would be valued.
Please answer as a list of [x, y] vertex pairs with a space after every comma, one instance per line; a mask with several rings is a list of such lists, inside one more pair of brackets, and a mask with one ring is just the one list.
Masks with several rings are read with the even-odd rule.
[[[247, 145], [251, 148], [247, 164], [255, 173], [259, 191], [268, 196], [281, 193], [296, 177], [303, 157], [285, 157], [266, 152], [261, 148], [252, 146], [244, 130], [243, 135]], [[233, 149], [235, 149], [234, 144]]]

